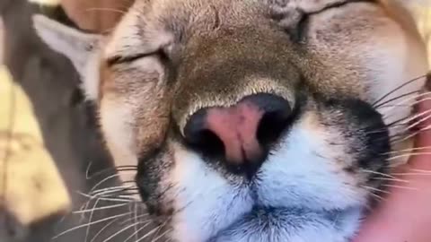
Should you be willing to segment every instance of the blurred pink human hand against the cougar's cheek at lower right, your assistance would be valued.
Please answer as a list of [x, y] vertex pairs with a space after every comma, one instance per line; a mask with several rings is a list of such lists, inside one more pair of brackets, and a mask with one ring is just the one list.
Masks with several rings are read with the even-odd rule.
[[[430, 83], [431, 84], [431, 83]], [[428, 85], [429, 86], [429, 85]], [[431, 110], [431, 94], [418, 104], [418, 113]], [[426, 115], [427, 117], [428, 115]], [[431, 118], [420, 125], [409, 163], [392, 174], [398, 179], [354, 242], [431, 241]]]

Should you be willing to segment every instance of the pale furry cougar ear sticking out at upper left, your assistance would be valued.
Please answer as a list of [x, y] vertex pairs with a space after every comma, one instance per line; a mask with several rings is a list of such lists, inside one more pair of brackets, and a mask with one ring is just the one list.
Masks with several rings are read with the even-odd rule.
[[87, 98], [97, 99], [99, 77], [96, 73], [102, 36], [75, 30], [42, 14], [34, 15], [32, 20], [40, 39], [75, 66]]

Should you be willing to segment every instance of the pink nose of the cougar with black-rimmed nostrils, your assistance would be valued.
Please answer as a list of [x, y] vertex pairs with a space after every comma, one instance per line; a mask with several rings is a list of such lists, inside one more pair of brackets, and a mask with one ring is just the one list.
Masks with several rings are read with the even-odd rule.
[[254, 175], [291, 117], [286, 101], [271, 94], [247, 96], [228, 108], [203, 108], [189, 118], [184, 133], [209, 160], [235, 173]]

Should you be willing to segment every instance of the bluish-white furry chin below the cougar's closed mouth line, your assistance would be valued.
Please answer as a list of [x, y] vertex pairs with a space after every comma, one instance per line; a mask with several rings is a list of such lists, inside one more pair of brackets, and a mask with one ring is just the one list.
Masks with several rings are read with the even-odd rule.
[[[346, 229], [341, 224], [346, 220], [357, 219], [360, 213], [361, 209], [357, 207], [316, 212], [299, 207], [255, 206], [250, 212], [243, 214], [241, 218], [227, 226], [226, 229], [219, 231], [215, 237], [210, 238], [207, 242], [286, 241], [285, 239], [292, 238], [295, 230], [302, 230], [307, 227]], [[351, 229], [348, 234], [353, 234], [356, 228], [352, 226], [348, 229]]]

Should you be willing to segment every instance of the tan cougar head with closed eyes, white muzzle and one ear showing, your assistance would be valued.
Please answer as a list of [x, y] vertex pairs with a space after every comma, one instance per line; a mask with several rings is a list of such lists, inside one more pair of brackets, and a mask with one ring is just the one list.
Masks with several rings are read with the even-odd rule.
[[173, 241], [348, 241], [427, 72], [388, 2], [137, 0], [109, 36], [35, 23]]

